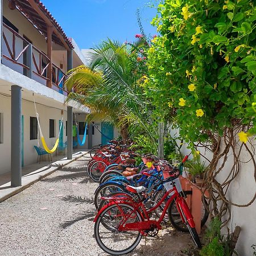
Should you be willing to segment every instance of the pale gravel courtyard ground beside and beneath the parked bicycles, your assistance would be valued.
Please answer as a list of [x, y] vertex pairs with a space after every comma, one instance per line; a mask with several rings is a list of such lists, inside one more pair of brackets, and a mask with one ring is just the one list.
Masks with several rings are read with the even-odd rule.
[[[93, 237], [97, 183], [85, 172], [88, 160], [84, 156], [0, 203], [0, 255], [108, 255]], [[143, 238], [130, 255], [196, 255], [193, 247], [189, 234], [168, 228], [146, 245]]]

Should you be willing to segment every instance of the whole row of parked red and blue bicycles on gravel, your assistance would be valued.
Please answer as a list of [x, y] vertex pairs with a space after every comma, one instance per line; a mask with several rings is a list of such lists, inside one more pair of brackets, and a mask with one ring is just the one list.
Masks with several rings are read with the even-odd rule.
[[[138, 155], [117, 141], [90, 151], [88, 175], [97, 181], [94, 205], [94, 237], [106, 253], [130, 253], [142, 236], [156, 236], [161, 224], [171, 222], [181, 232], [189, 232], [197, 247], [201, 247], [195, 222], [179, 179], [183, 164], [177, 166], [148, 154], [135, 166]], [[208, 219], [202, 204], [201, 226]]]

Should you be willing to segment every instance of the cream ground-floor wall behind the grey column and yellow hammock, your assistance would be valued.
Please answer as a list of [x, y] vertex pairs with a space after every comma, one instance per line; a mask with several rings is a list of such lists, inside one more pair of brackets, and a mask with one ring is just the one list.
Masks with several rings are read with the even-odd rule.
[[[46, 100], [47, 104], [47, 100]], [[11, 99], [0, 95], [0, 113], [3, 113], [3, 143], [0, 144], [0, 174], [10, 171], [11, 168], [11, 113], [10, 113]], [[51, 148], [59, 135], [59, 120], [63, 116], [63, 142], [67, 141], [66, 137], [66, 122], [67, 112], [64, 111], [61, 115], [60, 109], [46, 107], [36, 104], [36, 109], [39, 113], [40, 125], [46, 139], [46, 143]], [[35, 117], [34, 102], [27, 102], [22, 100], [22, 115], [24, 115], [24, 166], [35, 163], [37, 153], [34, 146], [38, 145], [37, 139], [30, 140], [30, 117]], [[55, 119], [55, 138], [49, 138], [49, 119]], [[40, 147], [42, 143], [40, 142]], [[55, 154], [55, 153], [53, 153]]]

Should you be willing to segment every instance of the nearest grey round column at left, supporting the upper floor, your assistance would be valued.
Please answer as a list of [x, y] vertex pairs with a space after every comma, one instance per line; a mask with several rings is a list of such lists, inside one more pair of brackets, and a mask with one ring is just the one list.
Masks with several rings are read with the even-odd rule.
[[11, 186], [22, 184], [22, 88], [11, 86]]

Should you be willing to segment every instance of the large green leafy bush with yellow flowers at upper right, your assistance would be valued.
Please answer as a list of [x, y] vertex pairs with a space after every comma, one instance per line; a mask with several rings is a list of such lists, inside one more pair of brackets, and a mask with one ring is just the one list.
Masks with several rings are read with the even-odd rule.
[[238, 123], [255, 133], [255, 1], [162, 0], [158, 13], [144, 88], [155, 114], [179, 126], [187, 142]]

